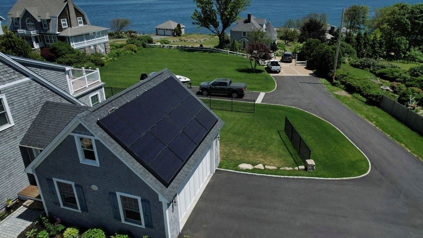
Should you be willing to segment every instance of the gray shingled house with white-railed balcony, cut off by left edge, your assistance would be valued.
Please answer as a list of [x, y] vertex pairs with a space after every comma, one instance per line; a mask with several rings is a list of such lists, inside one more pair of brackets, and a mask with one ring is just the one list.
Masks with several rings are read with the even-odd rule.
[[36, 186], [35, 179], [23, 169], [30, 159], [22, 158], [19, 142], [45, 101], [75, 105], [95, 105], [104, 100], [103, 82], [98, 70], [85, 71], [0, 52], [0, 210], [6, 199]]

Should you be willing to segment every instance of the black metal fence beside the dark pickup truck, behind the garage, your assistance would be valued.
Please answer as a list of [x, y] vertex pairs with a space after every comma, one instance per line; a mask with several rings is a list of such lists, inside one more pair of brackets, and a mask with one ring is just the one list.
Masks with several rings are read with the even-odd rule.
[[231, 112], [255, 112], [255, 101], [252, 99], [213, 97], [197, 95], [210, 109], [224, 110]]

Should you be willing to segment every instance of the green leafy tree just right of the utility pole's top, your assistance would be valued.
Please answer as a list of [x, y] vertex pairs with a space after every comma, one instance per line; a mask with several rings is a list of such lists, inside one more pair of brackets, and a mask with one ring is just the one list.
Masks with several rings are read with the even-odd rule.
[[369, 20], [369, 6], [351, 5], [345, 10], [344, 22], [347, 31], [347, 41], [357, 32], [364, 29]]

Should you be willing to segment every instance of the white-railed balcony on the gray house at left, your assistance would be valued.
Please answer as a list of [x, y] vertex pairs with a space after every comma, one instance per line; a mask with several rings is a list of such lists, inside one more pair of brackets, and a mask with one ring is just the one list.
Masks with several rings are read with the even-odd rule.
[[70, 90], [73, 96], [85, 92], [94, 86], [102, 84], [100, 70], [72, 68], [69, 71]]

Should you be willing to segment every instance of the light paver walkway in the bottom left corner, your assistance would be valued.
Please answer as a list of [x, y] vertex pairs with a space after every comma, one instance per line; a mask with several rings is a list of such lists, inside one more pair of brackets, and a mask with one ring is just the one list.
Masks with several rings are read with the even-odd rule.
[[19, 207], [0, 222], [1, 238], [16, 238], [44, 211]]

